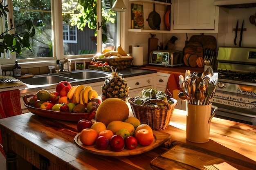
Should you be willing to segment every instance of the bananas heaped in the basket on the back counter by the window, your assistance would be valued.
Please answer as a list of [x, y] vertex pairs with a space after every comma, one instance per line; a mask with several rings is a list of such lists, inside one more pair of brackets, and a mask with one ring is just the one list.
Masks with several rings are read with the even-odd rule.
[[94, 59], [97, 59], [97, 58], [106, 58], [106, 57], [109, 57], [109, 58], [124, 58], [124, 57], [131, 57], [130, 55], [128, 55], [123, 49], [121, 46], [118, 46], [117, 47], [117, 51], [112, 51], [110, 49], [104, 49], [103, 50], [103, 53], [99, 53], [99, 54], [96, 54], [94, 55]]

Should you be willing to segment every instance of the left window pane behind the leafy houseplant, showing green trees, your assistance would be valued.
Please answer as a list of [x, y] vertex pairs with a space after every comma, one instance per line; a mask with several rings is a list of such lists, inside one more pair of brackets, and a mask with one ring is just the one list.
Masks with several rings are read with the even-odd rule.
[[[31, 38], [32, 53], [23, 49], [17, 59], [34, 57], [52, 57], [52, 13], [51, 0], [12, 0], [14, 25], [21, 25], [25, 20], [31, 19], [36, 29], [36, 34]], [[22, 33], [26, 25], [15, 29]]]

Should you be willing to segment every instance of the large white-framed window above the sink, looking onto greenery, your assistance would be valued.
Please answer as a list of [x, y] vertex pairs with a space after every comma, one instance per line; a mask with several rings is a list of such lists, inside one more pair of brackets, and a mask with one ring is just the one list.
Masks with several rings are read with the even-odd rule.
[[[81, 55], [92, 57], [92, 55], [85, 54], [96, 53], [97, 43], [102, 44], [102, 41], [97, 42], [99, 39], [96, 40], [94, 36], [96, 29], [89, 29], [85, 24], [81, 30], [72, 24], [72, 20], [74, 20], [72, 15], [77, 15], [84, 9], [78, 2], [81, 0], [3, 0], [3, 3], [8, 4], [8, 9], [11, 10], [7, 13], [7, 18], [0, 20], [0, 31], [5, 29], [4, 25], [7, 26], [3, 23], [4, 20], [10, 28], [11, 24], [17, 26], [24, 23], [25, 20], [31, 19], [36, 34], [30, 41], [32, 52], [23, 49], [20, 55], [16, 53], [1, 54], [1, 64], [13, 63], [16, 59], [20, 62], [30, 62], [62, 60], [64, 57], [81, 58]], [[105, 7], [104, 0], [101, 3]], [[102, 15], [105, 15], [104, 13], [106, 13], [105, 9], [103, 9]], [[109, 25], [111, 27], [108, 30], [111, 31], [108, 38], [116, 40], [116, 23]], [[11, 33], [20, 33], [23, 29], [26, 28], [17, 28]]]

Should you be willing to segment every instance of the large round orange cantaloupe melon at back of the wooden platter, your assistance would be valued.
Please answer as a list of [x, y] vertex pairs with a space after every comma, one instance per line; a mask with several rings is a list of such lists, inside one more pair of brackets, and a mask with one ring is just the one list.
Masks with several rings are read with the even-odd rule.
[[111, 121], [124, 121], [129, 117], [129, 108], [122, 99], [108, 98], [102, 102], [96, 110], [96, 121], [100, 121], [106, 126]]

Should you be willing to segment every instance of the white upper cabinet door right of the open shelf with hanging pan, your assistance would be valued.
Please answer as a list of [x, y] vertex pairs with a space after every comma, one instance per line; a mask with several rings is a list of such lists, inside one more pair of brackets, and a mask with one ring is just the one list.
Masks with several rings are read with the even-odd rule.
[[214, 0], [174, 0], [173, 29], [214, 29]]

